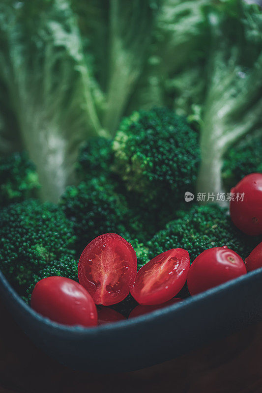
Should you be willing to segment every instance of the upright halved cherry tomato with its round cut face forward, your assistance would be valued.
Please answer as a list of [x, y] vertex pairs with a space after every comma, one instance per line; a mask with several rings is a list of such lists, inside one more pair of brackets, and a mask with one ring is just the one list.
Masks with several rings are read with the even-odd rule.
[[110, 306], [130, 292], [137, 272], [137, 257], [131, 246], [116, 233], [92, 240], [80, 256], [79, 282], [96, 304]]

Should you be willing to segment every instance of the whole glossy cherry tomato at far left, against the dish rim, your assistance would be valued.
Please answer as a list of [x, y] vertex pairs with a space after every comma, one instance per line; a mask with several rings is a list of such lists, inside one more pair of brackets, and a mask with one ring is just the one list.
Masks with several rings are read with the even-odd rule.
[[32, 292], [31, 307], [64, 325], [97, 325], [93, 299], [82, 285], [65, 277], [53, 276], [38, 281]]

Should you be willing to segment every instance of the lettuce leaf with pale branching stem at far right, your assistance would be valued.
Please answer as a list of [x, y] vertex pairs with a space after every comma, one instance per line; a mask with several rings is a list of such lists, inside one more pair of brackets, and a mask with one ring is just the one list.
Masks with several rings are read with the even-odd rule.
[[262, 128], [262, 13], [232, 0], [207, 9], [211, 44], [201, 125], [200, 192], [221, 192], [223, 157]]

